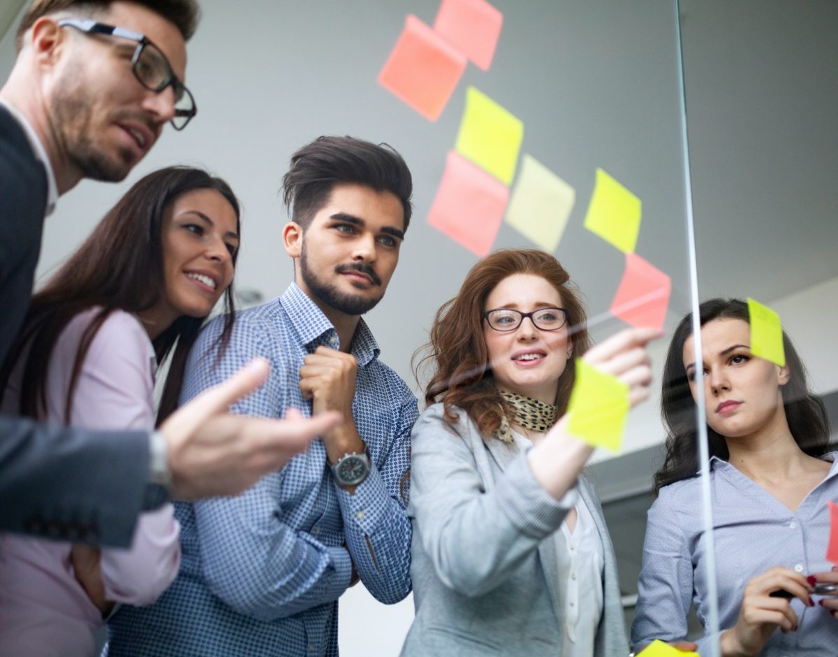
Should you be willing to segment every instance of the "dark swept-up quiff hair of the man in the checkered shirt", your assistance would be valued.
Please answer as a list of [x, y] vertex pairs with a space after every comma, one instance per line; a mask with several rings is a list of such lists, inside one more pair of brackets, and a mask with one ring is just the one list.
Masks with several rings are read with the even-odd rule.
[[292, 221], [305, 230], [334, 185], [341, 184], [391, 192], [401, 201], [407, 230], [413, 180], [405, 160], [389, 144], [354, 137], [318, 137], [291, 156], [291, 168], [282, 177], [282, 199]]

